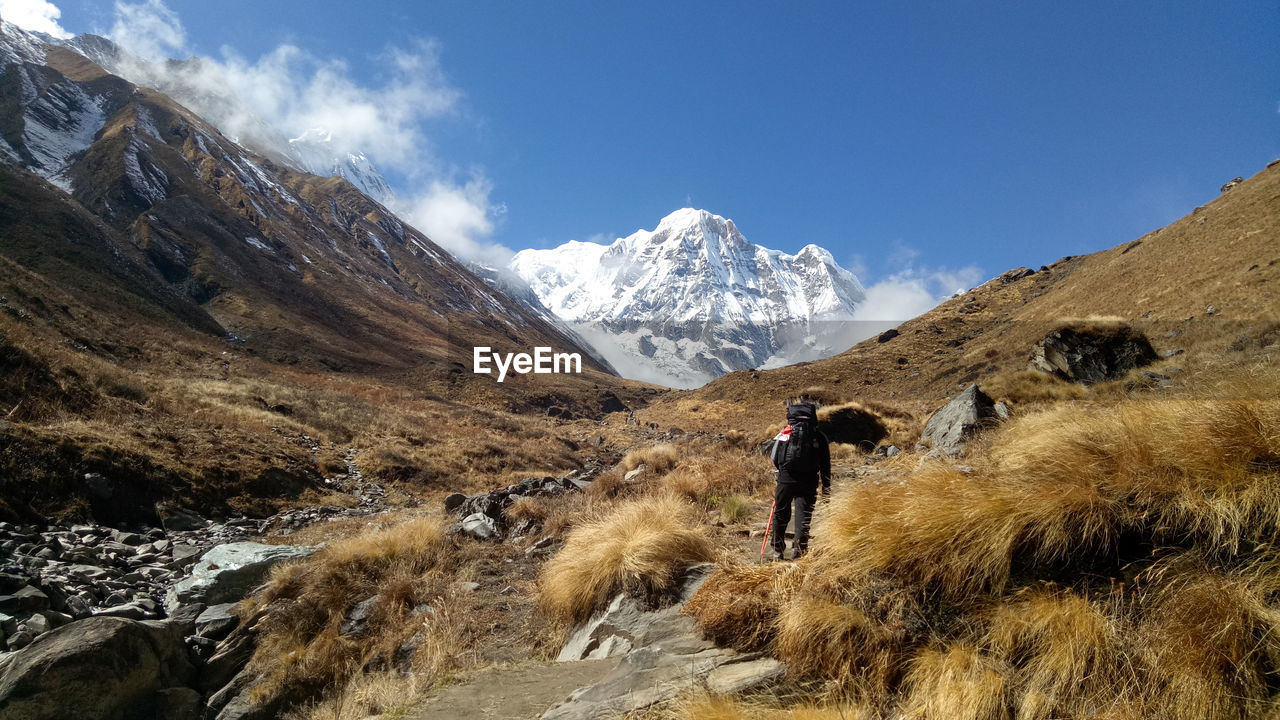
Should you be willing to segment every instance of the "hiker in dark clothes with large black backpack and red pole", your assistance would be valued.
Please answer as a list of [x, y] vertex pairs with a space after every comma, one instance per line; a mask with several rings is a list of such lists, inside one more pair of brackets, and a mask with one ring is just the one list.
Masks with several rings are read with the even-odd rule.
[[773, 552], [782, 560], [787, 547], [787, 521], [795, 506], [795, 539], [791, 559], [809, 550], [809, 519], [818, 487], [831, 495], [831, 447], [827, 436], [818, 432], [818, 406], [812, 402], [787, 405], [787, 427], [773, 438], [769, 455], [778, 469], [778, 488], [773, 493]]

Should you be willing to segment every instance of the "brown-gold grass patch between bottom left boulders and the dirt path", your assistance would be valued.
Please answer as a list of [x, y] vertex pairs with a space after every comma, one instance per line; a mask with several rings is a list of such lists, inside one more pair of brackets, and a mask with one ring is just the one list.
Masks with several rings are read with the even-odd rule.
[[[265, 698], [344, 687], [417, 633], [425, 639], [412, 667], [421, 682], [438, 679], [462, 642], [442, 602], [456, 555], [449, 546], [436, 520], [413, 519], [335, 541], [302, 562], [275, 568], [246, 610], [265, 612], [250, 661], [262, 678], [255, 692]], [[369, 598], [374, 606], [365, 628], [344, 632], [355, 606]], [[431, 611], [416, 610], [422, 606]]]

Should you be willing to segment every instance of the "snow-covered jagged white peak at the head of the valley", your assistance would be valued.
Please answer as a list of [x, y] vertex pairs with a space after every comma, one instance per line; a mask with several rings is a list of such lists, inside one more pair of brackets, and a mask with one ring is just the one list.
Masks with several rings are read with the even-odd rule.
[[524, 250], [511, 269], [625, 375], [677, 387], [860, 340], [851, 320], [863, 287], [829, 252], [753, 245], [705, 210], [677, 210], [608, 246]]

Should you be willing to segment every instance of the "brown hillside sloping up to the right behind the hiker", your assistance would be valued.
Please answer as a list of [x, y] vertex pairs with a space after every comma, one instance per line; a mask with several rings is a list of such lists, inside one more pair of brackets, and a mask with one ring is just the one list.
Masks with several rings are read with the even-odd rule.
[[785, 398], [805, 391], [826, 402], [870, 400], [924, 414], [973, 382], [996, 392], [1016, 387], [1034, 342], [1065, 318], [1094, 315], [1133, 323], [1157, 351], [1185, 350], [1153, 370], [1193, 373], [1265, 345], [1258, 338], [1280, 325], [1277, 293], [1280, 165], [1272, 164], [1171, 225], [1014, 282], [992, 279], [902, 323], [887, 342], [731, 373], [664, 396], [641, 419], [762, 432], [781, 419]]

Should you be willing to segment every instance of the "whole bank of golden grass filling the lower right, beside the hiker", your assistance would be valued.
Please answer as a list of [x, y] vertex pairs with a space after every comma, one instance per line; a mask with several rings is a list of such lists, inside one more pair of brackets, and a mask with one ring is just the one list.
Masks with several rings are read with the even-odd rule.
[[1060, 405], [972, 473], [837, 484], [786, 583], [722, 570], [689, 611], [888, 716], [1274, 716], [1277, 380]]

